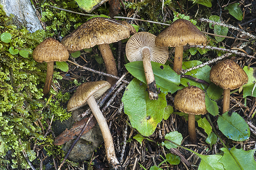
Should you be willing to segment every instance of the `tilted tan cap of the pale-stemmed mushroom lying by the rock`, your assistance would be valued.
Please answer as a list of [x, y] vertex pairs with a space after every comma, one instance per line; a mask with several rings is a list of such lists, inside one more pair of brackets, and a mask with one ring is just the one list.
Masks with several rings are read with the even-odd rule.
[[94, 96], [98, 100], [108, 89], [110, 83], [108, 81], [86, 82], [78, 86], [74, 95], [69, 99], [67, 110], [73, 111], [87, 104], [86, 100]]

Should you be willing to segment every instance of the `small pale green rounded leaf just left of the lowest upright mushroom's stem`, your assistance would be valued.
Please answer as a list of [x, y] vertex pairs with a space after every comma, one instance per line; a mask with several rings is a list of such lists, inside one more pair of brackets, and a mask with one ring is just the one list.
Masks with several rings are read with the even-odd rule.
[[[170, 141], [175, 142], [179, 145], [181, 144], [181, 141], [182, 141], [182, 135], [178, 131], [170, 132], [170, 133], [166, 134], [164, 138], [169, 139]], [[177, 145], [175, 145], [169, 141], [164, 141], [164, 146], [167, 149], [178, 147]]]

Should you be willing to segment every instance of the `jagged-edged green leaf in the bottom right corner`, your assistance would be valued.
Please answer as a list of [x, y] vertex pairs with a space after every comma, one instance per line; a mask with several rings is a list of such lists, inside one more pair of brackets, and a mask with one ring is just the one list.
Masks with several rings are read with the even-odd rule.
[[244, 151], [236, 149], [235, 146], [230, 151], [226, 148], [220, 148], [224, 152], [219, 162], [223, 164], [226, 170], [255, 170], [256, 162], [253, 158], [255, 150]]

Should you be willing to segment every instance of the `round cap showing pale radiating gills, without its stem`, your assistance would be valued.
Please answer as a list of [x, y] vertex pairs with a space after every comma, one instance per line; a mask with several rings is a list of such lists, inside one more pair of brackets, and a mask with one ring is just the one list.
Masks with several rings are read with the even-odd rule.
[[150, 60], [164, 64], [168, 58], [168, 47], [160, 47], [155, 44], [156, 35], [148, 32], [139, 32], [130, 37], [126, 43], [126, 57], [132, 61], [142, 61], [142, 49], [150, 49]]

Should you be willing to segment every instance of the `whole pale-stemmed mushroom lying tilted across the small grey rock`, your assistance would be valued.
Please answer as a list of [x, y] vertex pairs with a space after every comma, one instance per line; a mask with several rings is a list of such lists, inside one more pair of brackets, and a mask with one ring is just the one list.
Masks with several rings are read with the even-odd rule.
[[99, 99], [108, 89], [110, 84], [108, 81], [94, 81], [86, 82], [81, 84], [77, 89], [74, 95], [68, 101], [67, 110], [73, 111], [86, 104], [92, 110], [94, 117], [99, 123], [100, 130], [105, 142], [106, 156], [108, 163], [113, 169], [123, 169], [120, 165], [118, 159], [116, 158], [115, 148], [111, 133], [108, 128], [107, 121], [103, 116], [100, 108], [95, 100]]

